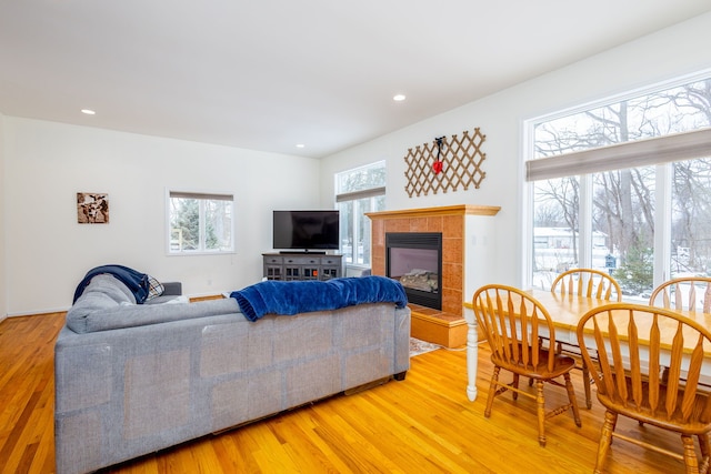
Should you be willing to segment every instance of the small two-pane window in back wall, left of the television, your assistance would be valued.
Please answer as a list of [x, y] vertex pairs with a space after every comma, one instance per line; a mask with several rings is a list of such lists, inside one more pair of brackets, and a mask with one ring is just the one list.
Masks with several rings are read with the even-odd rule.
[[233, 252], [233, 196], [169, 191], [168, 252]]

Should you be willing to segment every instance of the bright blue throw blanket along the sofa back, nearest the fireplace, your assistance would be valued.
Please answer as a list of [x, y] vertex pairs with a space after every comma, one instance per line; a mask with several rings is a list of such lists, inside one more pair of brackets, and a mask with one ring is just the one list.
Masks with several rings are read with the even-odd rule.
[[399, 281], [385, 276], [342, 278], [328, 281], [269, 280], [230, 293], [249, 321], [264, 314], [292, 315], [309, 311], [338, 310], [359, 303], [392, 302], [408, 304]]

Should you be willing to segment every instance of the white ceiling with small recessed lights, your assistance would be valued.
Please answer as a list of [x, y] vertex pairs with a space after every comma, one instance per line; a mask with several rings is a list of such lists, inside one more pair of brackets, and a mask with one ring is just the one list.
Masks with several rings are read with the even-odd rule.
[[0, 113], [318, 158], [707, 11], [709, 0], [0, 0]]

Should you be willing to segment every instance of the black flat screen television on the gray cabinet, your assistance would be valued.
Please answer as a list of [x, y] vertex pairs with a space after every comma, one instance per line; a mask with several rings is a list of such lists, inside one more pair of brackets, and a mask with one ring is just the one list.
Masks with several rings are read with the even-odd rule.
[[326, 251], [339, 248], [339, 211], [274, 211], [273, 248]]

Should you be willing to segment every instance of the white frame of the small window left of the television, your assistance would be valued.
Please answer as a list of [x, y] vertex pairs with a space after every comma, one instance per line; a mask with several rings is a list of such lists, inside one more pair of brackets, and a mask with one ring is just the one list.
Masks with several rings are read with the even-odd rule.
[[[196, 250], [172, 250], [172, 234], [173, 229], [171, 225], [171, 200], [174, 198], [194, 199], [202, 201], [199, 204], [199, 242]], [[221, 249], [206, 249], [206, 229], [207, 221], [204, 215], [204, 201], [226, 201], [230, 203], [230, 245]], [[236, 202], [234, 195], [231, 192], [213, 192], [213, 191], [186, 191], [184, 189], [166, 189], [166, 254], [169, 256], [184, 256], [184, 255], [222, 255], [237, 253], [236, 245], [236, 223], [234, 219]]]

